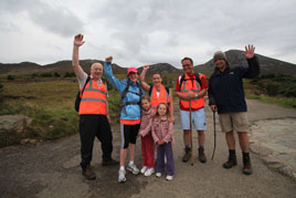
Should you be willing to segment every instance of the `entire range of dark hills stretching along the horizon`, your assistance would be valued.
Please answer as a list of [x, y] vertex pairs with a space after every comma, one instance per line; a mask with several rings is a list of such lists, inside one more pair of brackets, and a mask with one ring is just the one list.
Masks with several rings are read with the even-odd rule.
[[[226, 51], [226, 56], [230, 65], [242, 65], [246, 66], [247, 62], [242, 55], [243, 51], [239, 50], [230, 50]], [[261, 73], [262, 74], [285, 74], [285, 75], [296, 75], [296, 64], [287, 63], [284, 61], [275, 60], [272, 58], [267, 58], [264, 55], [256, 54], [260, 63], [261, 63]], [[101, 62], [99, 60], [82, 60], [80, 61], [84, 71], [89, 73], [89, 67], [92, 63]], [[204, 73], [209, 75], [214, 67], [213, 60], [205, 62], [204, 64], [195, 65], [193, 67], [194, 71]], [[142, 71], [142, 67], [138, 69], [139, 72]], [[14, 63], [14, 64], [3, 64], [0, 63], [0, 75], [32, 75], [33, 73], [40, 74], [45, 72], [59, 72], [60, 74], [64, 74], [66, 72], [73, 72], [72, 69], [72, 61], [60, 61], [52, 64], [46, 65], [39, 65], [32, 62], [22, 62], [22, 63]], [[113, 64], [113, 72], [114, 74], [126, 74], [127, 69], [121, 67], [117, 64]], [[168, 63], [157, 63], [150, 65], [148, 70], [148, 75], [152, 73], [159, 72], [161, 74], [179, 74], [182, 72], [181, 69], [176, 69], [175, 66]]]

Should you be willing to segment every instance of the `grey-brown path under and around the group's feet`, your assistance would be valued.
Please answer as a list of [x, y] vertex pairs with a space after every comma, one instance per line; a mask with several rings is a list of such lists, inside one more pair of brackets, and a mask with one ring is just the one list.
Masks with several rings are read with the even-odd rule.
[[[252, 123], [261, 119], [296, 117], [296, 111], [275, 105], [247, 101]], [[118, 167], [101, 166], [101, 144], [96, 140], [92, 165], [97, 175], [95, 181], [83, 179], [80, 163], [80, 139], [73, 135], [56, 142], [36, 146], [15, 146], [0, 149], [0, 197], [295, 197], [296, 183], [292, 178], [271, 170], [260, 154], [252, 154], [254, 174], [242, 174], [242, 158], [237, 148], [237, 166], [222, 168], [228, 157], [224, 135], [218, 124], [218, 147], [214, 160], [213, 119], [207, 108], [205, 135], [207, 164], [201, 164], [194, 149], [194, 165], [181, 161], [183, 155], [182, 132], [177, 112], [173, 155], [176, 178], [167, 181], [127, 174], [125, 184], [117, 183]], [[114, 128], [114, 157], [118, 158], [119, 133]], [[193, 135], [197, 145], [197, 133]], [[137, 143], [137, 165], [140, 166], [140, 142]]]

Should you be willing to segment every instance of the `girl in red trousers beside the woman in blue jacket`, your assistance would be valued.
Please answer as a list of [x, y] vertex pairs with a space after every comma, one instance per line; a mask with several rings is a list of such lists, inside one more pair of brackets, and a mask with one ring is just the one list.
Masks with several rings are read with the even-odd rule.
[[151, 176], [155, 173], [155, 149], [151, 136], [152, 108], [150, 97], [141, 97], [141, 123], [139, 136], [141, 137], [142, 168], [140, 170], [145, 176]]

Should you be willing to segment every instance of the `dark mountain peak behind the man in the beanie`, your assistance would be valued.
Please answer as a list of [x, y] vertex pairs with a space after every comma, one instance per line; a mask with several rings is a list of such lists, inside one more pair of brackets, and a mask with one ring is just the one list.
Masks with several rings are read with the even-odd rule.
[[[243, 51], [240, 50], [229, 50], [225, 52], [228, 62], [230, 65], [235, 66], [246, 66], [247, 62], [242, 55]], [[296, 64], [287, 63], [276, 59], [267, 58], [264, 55], [256, 54], [260, 65], [261, 74], [285, 74], [285, 75], [296, 75]], [[200, 64], [193, 67], [195, 72], [201, 72], [210, 74], [213, 71], [214, 63], [213, 59], [204, 64]]]

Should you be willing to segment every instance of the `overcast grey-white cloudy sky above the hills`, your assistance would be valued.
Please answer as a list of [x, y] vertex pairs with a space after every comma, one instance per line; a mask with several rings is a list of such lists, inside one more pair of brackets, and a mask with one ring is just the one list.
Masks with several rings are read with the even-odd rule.
[[244, 50], [296, 63], [296, 0], [1, 0], [0, 63], [44, 65], [72, 59], [75, 34], [84, 35], [80, 59], [120, 66]]

